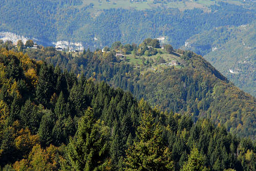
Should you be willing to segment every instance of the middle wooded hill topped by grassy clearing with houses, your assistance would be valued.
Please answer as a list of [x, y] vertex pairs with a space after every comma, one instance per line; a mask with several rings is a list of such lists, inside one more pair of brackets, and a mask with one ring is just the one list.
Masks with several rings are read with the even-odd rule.
[[57, 52], [54, 47], [24, 51], [75, 75], [131, 91], [136, 99], [143, 98], [163, 111], [190, 114], [195, 120], [211, 118], [231, 133], [255, 139], [253, 96], [230, 83], [201, 56], [173, 50], [171, 45], [159, 47], [159, 41], [149, 38], [138, 46], [115, 42], [103, 53]]

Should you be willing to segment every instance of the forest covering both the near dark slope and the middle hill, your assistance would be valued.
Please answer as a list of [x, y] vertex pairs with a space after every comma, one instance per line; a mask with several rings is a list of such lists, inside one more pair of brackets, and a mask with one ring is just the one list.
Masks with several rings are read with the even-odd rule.
[[[192, 52], [126, 47], [121, 60], [120, 42], [103, 53], [2, 44], [1, 170], [256, 169], [254, 97]], [[151, 71], [165, 51], [180, 64]], [[160, 57], [137, 67], [129, 53]]]

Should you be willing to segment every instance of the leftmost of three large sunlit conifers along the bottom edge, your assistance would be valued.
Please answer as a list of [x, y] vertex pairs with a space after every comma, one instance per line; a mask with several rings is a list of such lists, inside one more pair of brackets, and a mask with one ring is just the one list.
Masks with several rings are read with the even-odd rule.
[[94, 111], [88, 108], [81, 118], [76, 136], [70, 138], [68, 156], [74, 170], [109, 170], [108, 143], [99, 133]]

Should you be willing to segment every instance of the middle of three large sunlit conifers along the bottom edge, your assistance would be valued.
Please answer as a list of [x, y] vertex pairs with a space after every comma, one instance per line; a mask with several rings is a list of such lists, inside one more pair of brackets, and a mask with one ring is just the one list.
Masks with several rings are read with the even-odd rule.
[[151, 112], [144, 112], [137, 130], [139, 141], [126, 151], [124, 170], [172, 170], [173, 161], [161, 135]]

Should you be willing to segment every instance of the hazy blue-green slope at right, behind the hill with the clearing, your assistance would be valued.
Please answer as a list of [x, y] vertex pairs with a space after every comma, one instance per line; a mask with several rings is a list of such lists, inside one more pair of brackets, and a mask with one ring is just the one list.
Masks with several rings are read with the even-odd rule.
[[203, 55], [225, 77], [256, 95], [256, 22], [219, 27], [192, 36], [182, 48]]

